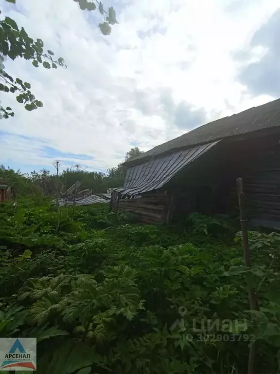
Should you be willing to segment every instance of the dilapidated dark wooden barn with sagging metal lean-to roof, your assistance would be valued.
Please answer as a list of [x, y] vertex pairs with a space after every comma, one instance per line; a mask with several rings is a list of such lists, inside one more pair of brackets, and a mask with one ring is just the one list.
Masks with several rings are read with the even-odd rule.
[[141, 222], [230, 214], [236, 179], [243, 178], [248, 218], [280, 228], [280, 99], [210, 122], [124, 165], [125, 183], [111, 204]]

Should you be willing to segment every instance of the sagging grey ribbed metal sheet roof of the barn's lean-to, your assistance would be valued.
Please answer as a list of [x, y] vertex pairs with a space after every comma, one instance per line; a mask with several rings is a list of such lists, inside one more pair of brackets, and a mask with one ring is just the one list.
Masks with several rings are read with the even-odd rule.
[[129, 168], [126, 172], [124, 186], [116, 188], [116, 190], [123, 194], [136, 195], [160, 188], [169, 182], [179, 170], [210, 150], [218, 142], [151, 158], [141, 165]]

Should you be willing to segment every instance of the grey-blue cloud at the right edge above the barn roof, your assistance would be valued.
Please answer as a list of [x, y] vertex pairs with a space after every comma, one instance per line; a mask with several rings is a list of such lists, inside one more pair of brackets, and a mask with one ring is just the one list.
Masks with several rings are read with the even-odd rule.
[[[256, 32], [251, 41], [251, 55], [257, 61], [245, 66], [240, 80], [255, 95], [280, 96], [280, 9]], [[249, 53], [247, 52], [247, 59]]]

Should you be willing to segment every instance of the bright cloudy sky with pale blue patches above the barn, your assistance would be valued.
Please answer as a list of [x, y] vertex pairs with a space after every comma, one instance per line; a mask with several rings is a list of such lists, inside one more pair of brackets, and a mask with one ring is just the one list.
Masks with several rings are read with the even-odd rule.
[[[0, 120], [0, 164], [23, 172], [79, 164], [105, 171], [211, 120], [280, 97], [279, 0], [106, 0], [119, 24], [73, 0], [0, 0], [67, 69], [7, 59], [8, 74], [44, 104]], [[53, 170], [54, 171], [54, 170]]]

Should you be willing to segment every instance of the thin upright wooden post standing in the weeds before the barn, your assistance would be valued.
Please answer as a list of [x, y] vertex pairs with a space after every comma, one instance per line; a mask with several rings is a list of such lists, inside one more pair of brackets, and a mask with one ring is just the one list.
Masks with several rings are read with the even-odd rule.
[[[240, 224], [242, 231], [242, 240], [243, 240], [243, 258], [244, 263], [247, 268], [251, 268], [251, 257], [250, 249], [248, 242], [248, 229], [247, 229], [247, 220], [245, 218], [245, 195], [243, 191], [243, 180], [242, 178], [237, 179], [237, 191], [238, 191], [238, 202], [240, 210]], [[249, 295], [249, 305], [251, 310], [257, 309], [257, 295], [255, 290], [251, 288], [248, 284], [248, 295]], [[256, 342], [251, 342], [249, 358], [248, 358], [248, 374], [254, 374], [254, 360], [256, 355]]]

